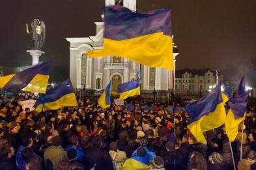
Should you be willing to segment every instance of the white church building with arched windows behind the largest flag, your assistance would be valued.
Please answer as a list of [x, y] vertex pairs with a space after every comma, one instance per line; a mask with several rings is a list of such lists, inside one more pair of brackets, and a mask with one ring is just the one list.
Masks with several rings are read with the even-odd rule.
[[[136, 10], [136, 0], [106, 0], [106, 6], [123, 5], [130, 10]], [[169, 90], [173, 88], [174, 71], [167, 69], [141, 66], [137, 62], [108, 56], [106, 58], [89, 58], [87, 51], [103, 48], [104, 22], [95, 22], [96, 35], [81, 38], [66, 38], [70, 42], [70, 79], [75, 89], [83, 86], [91, 90], [103, 90], [109, 81], [111, 90], [116, 91], [119, 84], [136, 79], [136, 73], [141, 70], [141, 90]], [[173, 62], [178, 55], [173, 49]]]

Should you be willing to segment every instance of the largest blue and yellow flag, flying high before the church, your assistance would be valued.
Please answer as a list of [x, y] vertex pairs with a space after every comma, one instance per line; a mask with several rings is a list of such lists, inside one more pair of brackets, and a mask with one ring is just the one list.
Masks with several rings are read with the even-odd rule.
[[121, 56], [150, 67], [173, 70], [173, 39], [169, 8], [145, 13], [123, 6], [104, 9], [104, 49], [89, 57]]

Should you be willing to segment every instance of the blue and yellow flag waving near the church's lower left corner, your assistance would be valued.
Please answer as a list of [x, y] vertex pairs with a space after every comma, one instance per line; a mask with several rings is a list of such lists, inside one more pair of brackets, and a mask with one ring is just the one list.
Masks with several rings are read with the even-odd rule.
[[46, 94], [40, 95], [34, 108], [36, 108], [36, 112], [42, 112], [43, 108], [44, 110], [57, 110], [64, 106], [78, 106], [70, 79], [61, 82], [56, 88], [48, 90]]

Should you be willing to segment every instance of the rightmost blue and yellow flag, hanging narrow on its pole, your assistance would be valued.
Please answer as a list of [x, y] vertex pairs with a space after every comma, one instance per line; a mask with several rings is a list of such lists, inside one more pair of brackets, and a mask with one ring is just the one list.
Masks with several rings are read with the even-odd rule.
[[245, 112], [248, 102], [248, 93], [246, 93], [244, 77], [240, 81], [235, 96], [232, 97], [227, 105], [230, 107], [225, 123], [225, 131], [230, 141], [235, 141], [238, 134], [238, 126], [245, 119]]

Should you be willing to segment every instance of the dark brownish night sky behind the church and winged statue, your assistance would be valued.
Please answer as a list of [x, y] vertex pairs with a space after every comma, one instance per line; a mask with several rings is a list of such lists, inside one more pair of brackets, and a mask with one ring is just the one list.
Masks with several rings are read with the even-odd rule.
[[[31, 64], [26, 49], [31, 38], [25, 23], [35, 17], [46, 23], [46, 55], [54, 73], [69, 71], [69, 43], [66, 37], [94, 36], [94, 21], [101, 21], [104, 0], [1, 0], [1, 66]], [[173, 33], [180, 55], [177, 68], [236, 67], [256, 57], [255, 0], [137, 0], [137, 10], [170, 7]]]

